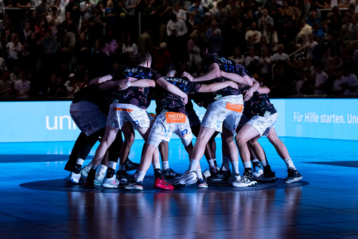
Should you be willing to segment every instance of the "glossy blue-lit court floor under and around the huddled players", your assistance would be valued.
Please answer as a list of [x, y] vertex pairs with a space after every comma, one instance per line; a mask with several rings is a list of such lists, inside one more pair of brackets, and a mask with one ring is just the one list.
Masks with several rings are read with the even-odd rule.
[[[73, 142], [0, 144], [0, 238], [358, 238], [358, 141], [282, 139], [299, 182], [284, 182], [286, 166], [265, 138], [275, 183], [160, 191], [150, 169], [142, 192], [69, 185], [63, 167]], [[184, 172], [180, 140], [169, 145], [170, 167]]]

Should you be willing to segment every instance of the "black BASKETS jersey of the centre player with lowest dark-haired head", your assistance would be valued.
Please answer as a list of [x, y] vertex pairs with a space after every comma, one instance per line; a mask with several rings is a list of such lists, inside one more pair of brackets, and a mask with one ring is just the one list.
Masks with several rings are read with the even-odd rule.
[[[158, 80], [160, 77], [156, 77], [155, 80]], [[202, 84], [190, 82], [188, 78], [175, 78], [169, 76], [163, 76], [163, 78], [178, 87], [185, 94], [195, 93], [200, 90]], [[182, 102], [180, 96], [171, 94], [169, 91], [165, 90], [163, 87], [158, 87], [158, 96], [156, 97], [156, 109], [155, 113], [158, 115], [163, 112], [178, 112], [185, 114], [185, 105]]]

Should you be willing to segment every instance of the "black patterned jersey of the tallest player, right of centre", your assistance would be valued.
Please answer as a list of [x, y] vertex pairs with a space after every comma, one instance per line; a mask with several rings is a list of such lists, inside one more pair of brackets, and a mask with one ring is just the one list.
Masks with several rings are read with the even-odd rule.
[[[231, 59], [225, 58], [225, 57], [219, 57], [217, 55], [207, 55], [204, 59], [204, 69], [205, 71], [209, 70], [209, 66], [213, 63], [217, 63], [219, 65], [219, 69], [221, 71], [229, 72], [229, 73], [236, 73], [240, 76], [246, 76], [249, 75], [245, 67], [241, 66], [240, 64], [237, 64], [236, 62], [232, 61]], [[210, 81], [210, 83], [215, 82], [224, 82], [228, 81], [225, 77], [217, 77]], [[221, 90], [212, 92], [209, 94], [208, 97], [208, 103], [212, 103], [224, 96], [229, 95], [240, 95], [240, 90], [233, 89], [231, 87], [226, 87]]]

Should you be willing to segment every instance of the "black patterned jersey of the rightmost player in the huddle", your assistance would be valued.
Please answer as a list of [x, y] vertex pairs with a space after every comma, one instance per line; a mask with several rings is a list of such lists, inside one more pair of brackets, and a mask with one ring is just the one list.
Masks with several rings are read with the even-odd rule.
[[[249, 87], [244, 86], [240, 88], [241, 91], [247, 90]], [[253, 92], [250, 100], [244, 102], [244, 112], [249, 119], [255, 115], [267, 116], [277, 113], [274, 105], [271, 104], [270, 98], [267, 94], [260, 94], [257, 91]]]

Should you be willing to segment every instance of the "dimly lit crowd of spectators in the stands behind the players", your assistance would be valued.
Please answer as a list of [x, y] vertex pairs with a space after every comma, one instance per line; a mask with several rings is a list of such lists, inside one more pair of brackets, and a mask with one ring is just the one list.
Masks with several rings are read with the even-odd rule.
[[[4, 0], [0, 99], [72, 97], [91, 78], [103, 34], [113, 68], [149, 52], [201, 73], [204, 43], [242, 64], [270, 97], [357, 97], [358, 0]], [[15, 9], [16, 8], [16, 9]]]

